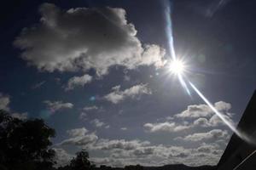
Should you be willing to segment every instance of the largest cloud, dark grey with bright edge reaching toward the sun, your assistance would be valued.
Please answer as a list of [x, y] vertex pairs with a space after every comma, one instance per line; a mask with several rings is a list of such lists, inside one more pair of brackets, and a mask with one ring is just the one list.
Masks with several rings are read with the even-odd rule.
[[22, 50], [22, 59], [41, 71], [93, 68], [104, 75], [112, 65], [134, 69], [165, 64], [165, 50], [154, 44], [143, 45], [123, 8], [64, 10], [44, 3], [39, 13], [39, 23], [24, 28], [14, 44]]

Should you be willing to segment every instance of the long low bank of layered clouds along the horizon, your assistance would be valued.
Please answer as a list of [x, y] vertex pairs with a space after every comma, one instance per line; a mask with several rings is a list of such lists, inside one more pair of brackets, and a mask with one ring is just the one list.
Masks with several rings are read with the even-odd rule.
[[[102, 153], [104, 158], [101, 156], [90, 157], [90, 160], [94, 161], [96, 165], [104, 164], [113, 167], [124, 167], [131, 164], [161, 166], [174, 163], [184, 163], [190, 166], [215, 165], [223, 153], [223, 149], [218, 144], [209, 143], [185, 148], [175, 145], [151, 144], [147, 140], [140, 139], [101, 139], [97, 137], [93, 140], [86, 138], [86, 142], [78, 142], [91, 134], [84, 129], [83, 127], [70, 130], [69, 135], [72, 138], [67, 139], [68, 142], [65, 143], [86, 148], [89, 152]], [[212, 136], [218, 138], [221, 135], [213, 132]]]

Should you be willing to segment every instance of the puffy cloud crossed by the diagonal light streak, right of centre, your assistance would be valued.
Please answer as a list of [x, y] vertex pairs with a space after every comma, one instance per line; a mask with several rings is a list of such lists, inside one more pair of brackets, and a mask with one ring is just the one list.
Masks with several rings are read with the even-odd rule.
[[[224, 101], [218, 101], [214, 107], [220, 112], [230, 111], [231, 105]], [[187, 110], [175, 115], [181, 118], [197, 118], [197, 117], [210, 117], [214, 114], [208, 105], [189, 105]]]

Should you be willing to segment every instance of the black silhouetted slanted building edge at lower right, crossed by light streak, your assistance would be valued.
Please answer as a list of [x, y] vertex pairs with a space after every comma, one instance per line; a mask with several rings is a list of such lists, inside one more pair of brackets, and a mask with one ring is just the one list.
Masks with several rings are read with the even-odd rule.
[[[241, 116], [237, 129], [249, 136], [255, 136], [256, 91]], [[256, 154], [254, 150], [256, 150], [256, 145], [247, 143], [234, 133], [224, 150], [223, 156], [221, 156], [221, 159], [218, 162], [218, 170], [255, 170]]]

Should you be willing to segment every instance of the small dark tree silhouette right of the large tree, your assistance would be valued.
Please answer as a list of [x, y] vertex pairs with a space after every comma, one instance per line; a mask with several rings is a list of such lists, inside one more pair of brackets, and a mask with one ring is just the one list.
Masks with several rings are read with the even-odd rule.
[[89, 161], [89, 154], [86, 150], [81, 150], [76, 155], [70, 162], [70, 167], [73, 170], [89, 170], [92, 167]]

